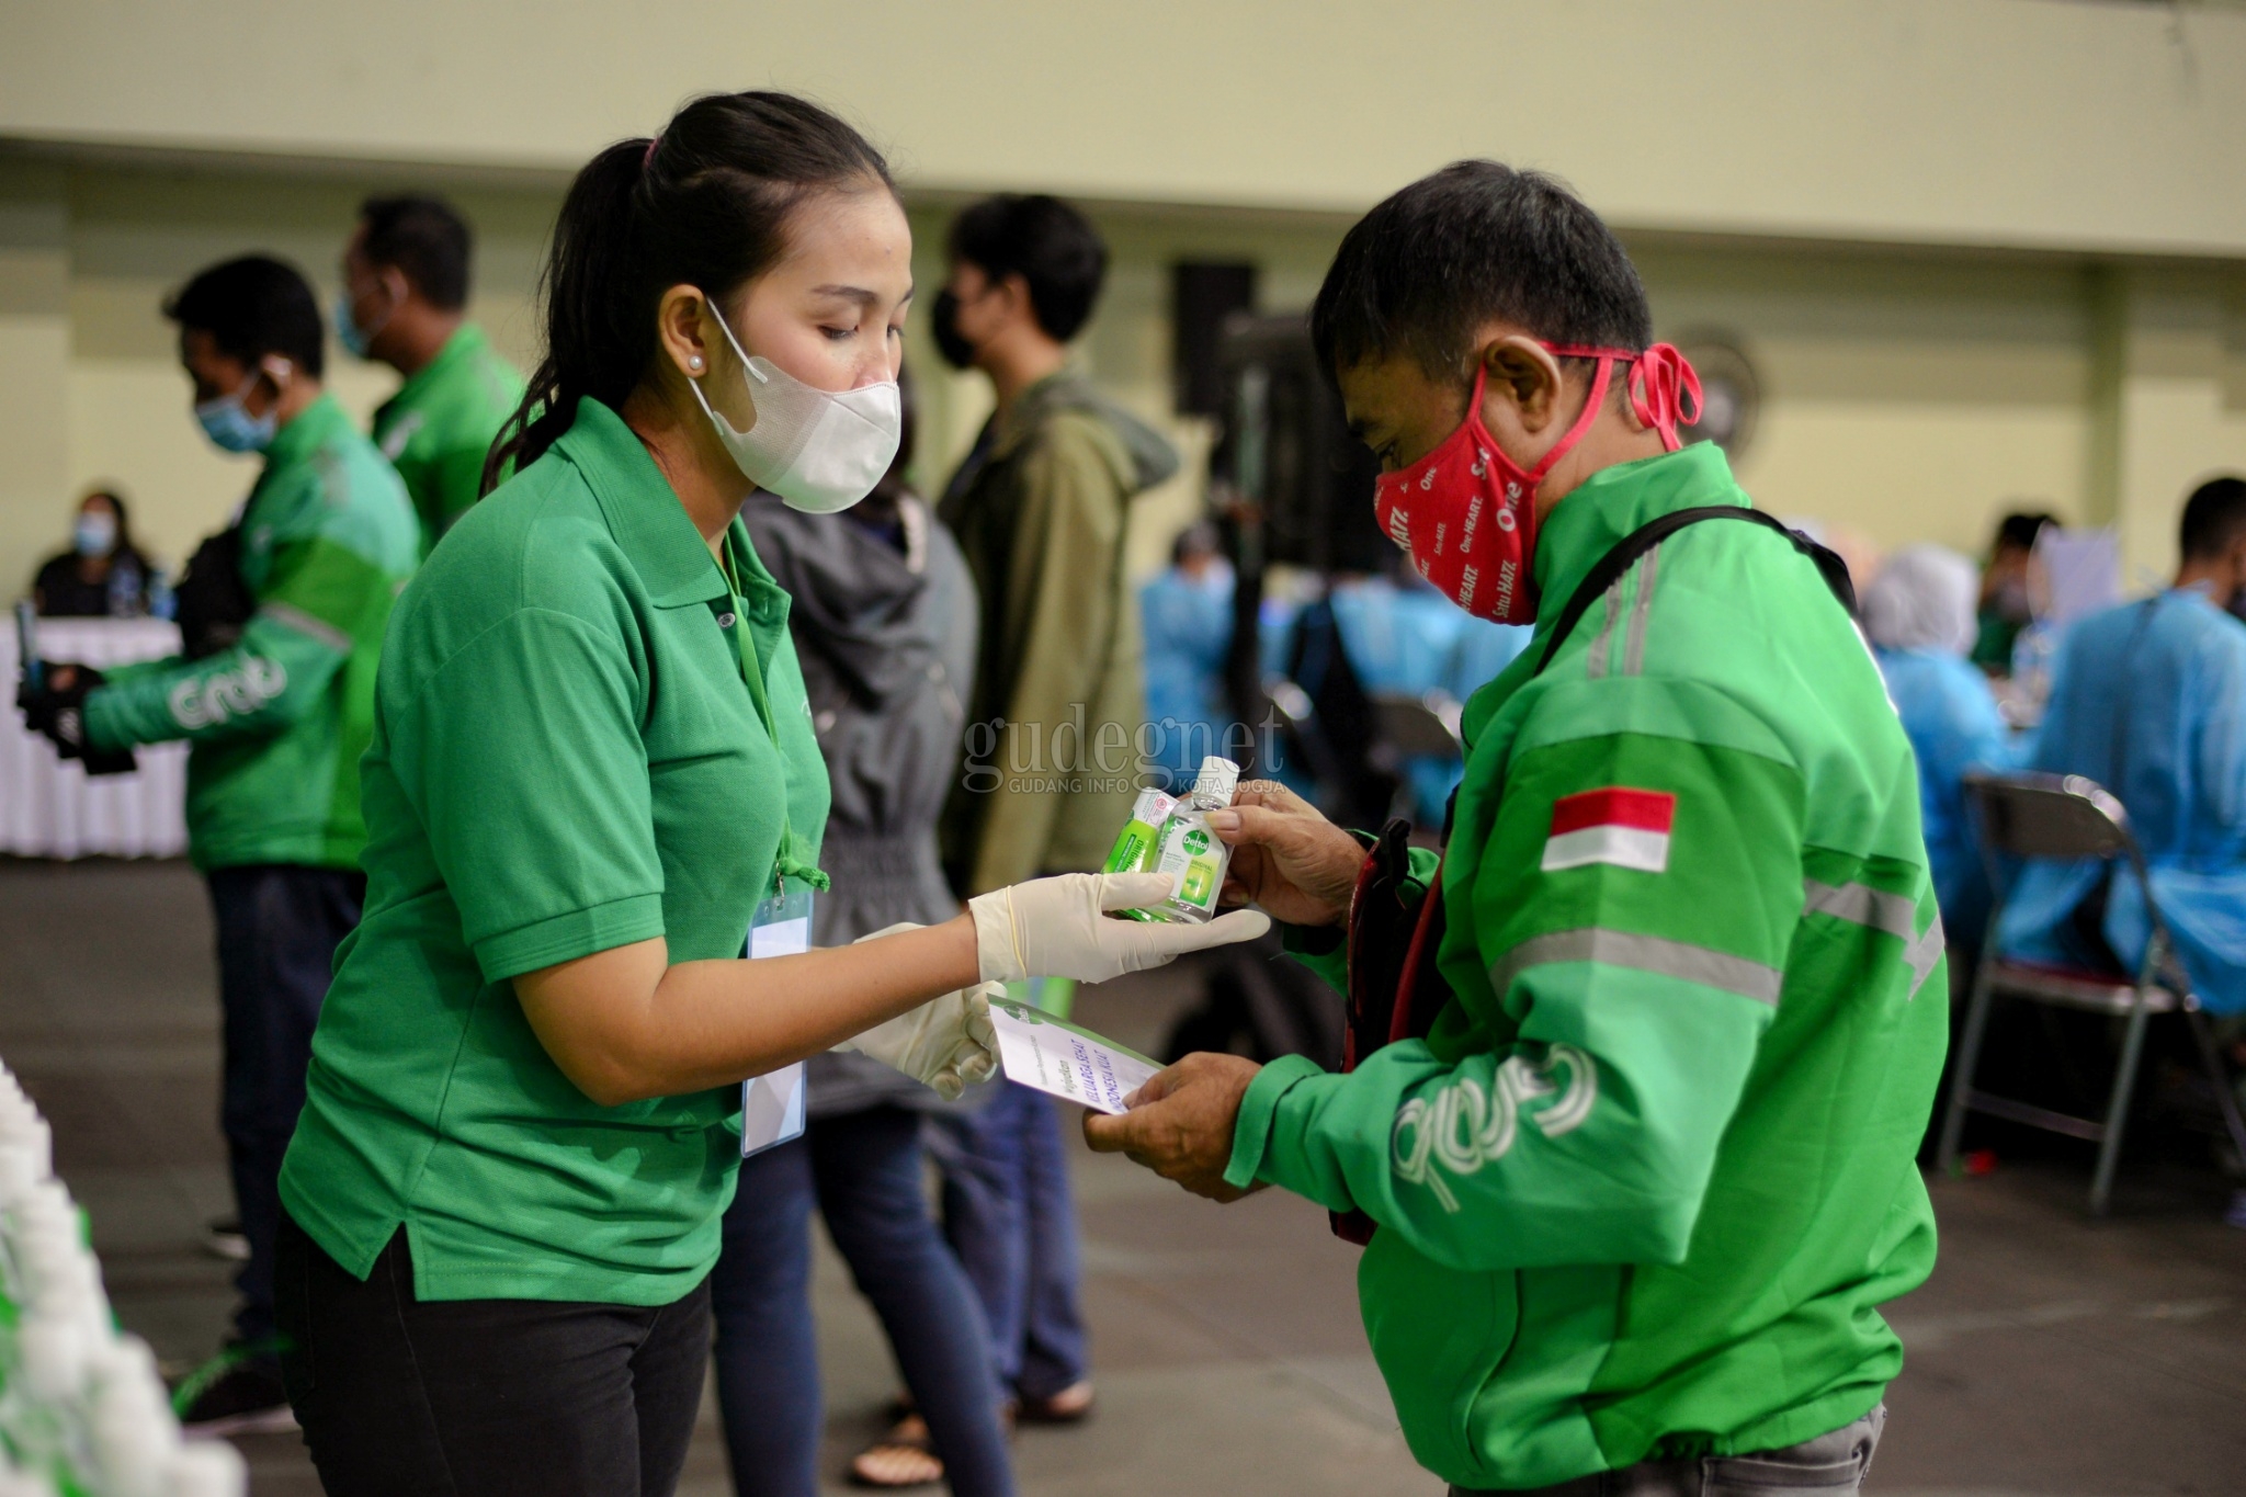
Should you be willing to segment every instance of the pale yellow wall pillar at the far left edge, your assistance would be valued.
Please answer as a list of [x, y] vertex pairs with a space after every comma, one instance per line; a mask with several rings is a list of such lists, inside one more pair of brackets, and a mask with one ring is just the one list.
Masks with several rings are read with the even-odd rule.
[[0, 166], [0, 601], [70, 536], [70, 200], [61, 168]]

